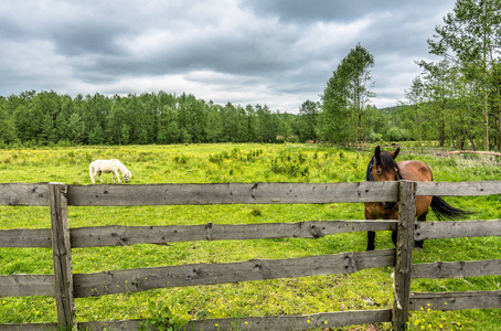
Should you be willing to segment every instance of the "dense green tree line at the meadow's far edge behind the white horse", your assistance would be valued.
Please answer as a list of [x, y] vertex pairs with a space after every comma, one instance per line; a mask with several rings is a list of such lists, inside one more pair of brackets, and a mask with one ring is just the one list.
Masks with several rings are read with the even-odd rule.
[[216, 105], [191, 94], [128, 96], [24, 92], [0, 97], [4, 145], [273, 142], [294, 136], [294, 116], [266, 105]]

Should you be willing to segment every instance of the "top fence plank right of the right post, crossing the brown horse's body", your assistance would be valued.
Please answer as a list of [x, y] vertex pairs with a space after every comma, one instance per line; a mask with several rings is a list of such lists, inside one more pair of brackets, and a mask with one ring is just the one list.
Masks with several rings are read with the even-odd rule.
[[501, 181], [417, 182], [416, 195], [491, 195], [501, 194]]

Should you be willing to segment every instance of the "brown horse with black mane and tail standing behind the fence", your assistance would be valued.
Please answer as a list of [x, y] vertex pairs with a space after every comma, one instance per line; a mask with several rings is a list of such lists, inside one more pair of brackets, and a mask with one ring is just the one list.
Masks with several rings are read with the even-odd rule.
[[[395, 161], [399, 148], [393, 152], [382, 151], [376, 147], [374, 156], [369, 162], [365, 180], [381, 181], [399, 181], [409, 180], [417, 182], [433, 181], [433, 173], [428, 166], [420, 161]], [[365, 202], [365, 220], [398, 220], [398, 205], [396, 202]], [[416, 196], [416, 217], [417, 221], [426, 221], [426, 215], [431, 206], [435, 215], [439, 221], [444, 218], [456, 218], [471, 214], [449, 205], [440, 196]], [[392, 234], [393, 244], [396, 245], [396, 231]], [[374, 250], [375, 232], [367, 232], [367, 250]], [[416, 242], [415, 247], [423, 248], [423, 241]]]

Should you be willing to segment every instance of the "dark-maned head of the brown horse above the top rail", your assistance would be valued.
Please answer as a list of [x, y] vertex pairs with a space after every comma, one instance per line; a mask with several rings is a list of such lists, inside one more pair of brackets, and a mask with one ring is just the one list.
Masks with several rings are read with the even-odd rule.
[[382, 151], [381, 147], [377, 146], [371, 162], [369, 162], [365, 179], [374, 182], [401, 180], [401, 170], [395, 161], [399, 151], [399, 147], [393, 152], [387, 152]]

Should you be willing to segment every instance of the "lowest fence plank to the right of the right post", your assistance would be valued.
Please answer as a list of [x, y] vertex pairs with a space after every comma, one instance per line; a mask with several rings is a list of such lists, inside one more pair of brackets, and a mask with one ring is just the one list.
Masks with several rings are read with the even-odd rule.
[[[428, 306], [429, 305], [429, 306]], [[411, 310], [463, 310], [501, 308], [501, 290], [469, 292], [415, 292]]]

